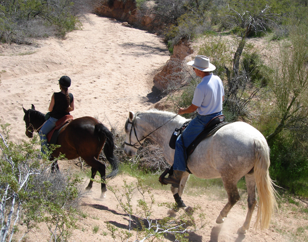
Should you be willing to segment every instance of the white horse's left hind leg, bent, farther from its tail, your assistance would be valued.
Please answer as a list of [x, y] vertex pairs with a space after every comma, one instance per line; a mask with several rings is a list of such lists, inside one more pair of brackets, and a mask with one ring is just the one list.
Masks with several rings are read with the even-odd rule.
[[224, 218], [229, 213], [230, 209], [237, 203], [237, 201], [240, 199], [240, 195], [237, 189], [237, 182], [235, 183], [232, 181], [224, 180], [223, 179], [224, 187], [228, 194], [228, 203], [224, 206], [224, 208], [221, 210], [219, 216], [216, 219], [217, 224], [222, 224], [224, 222]]

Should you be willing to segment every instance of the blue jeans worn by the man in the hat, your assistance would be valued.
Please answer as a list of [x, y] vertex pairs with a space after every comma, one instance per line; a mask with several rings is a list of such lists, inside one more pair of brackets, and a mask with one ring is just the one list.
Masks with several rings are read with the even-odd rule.
[[[176, 151], [174, 158], [174, 170], [186, 171], [186, 148], [197, 138], [197, 136], [204, 130], [207, 123], [214, 117], [221, 115], [222, 112], [213, 113], [209, 115], [200, 115], [192, 119], [183, 133], [179, 135], [176, 142]], [[183, 139], [182, 139], [183, 136]], [[184, 144], [183, 144], [184, 140]]]

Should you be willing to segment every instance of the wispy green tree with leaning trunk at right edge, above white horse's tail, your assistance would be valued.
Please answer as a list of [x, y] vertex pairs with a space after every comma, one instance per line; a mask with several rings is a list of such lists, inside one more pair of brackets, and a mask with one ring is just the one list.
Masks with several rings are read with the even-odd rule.
[[308, 116], [308, 28], [293, 27], [290, 40], [280, 45], [280, 53], [268, 73], [271, 97], [278, 125], [266, 139], [271, 141], [284, 129], [307, 127]]

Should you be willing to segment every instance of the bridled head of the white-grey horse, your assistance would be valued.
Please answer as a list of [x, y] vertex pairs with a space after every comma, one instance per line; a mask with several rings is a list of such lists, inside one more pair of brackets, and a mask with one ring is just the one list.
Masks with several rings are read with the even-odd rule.
[[140, 134], [138, 135], [136, 126], [137, 115], [138, 113], [134, 114], [133, 112], [129, 112], [129, 116], [125, 123], [126, 139], [124, 142], [124, 152], [128, 156], [136, 155], [138, 148], [144, 142], [144, 137]]

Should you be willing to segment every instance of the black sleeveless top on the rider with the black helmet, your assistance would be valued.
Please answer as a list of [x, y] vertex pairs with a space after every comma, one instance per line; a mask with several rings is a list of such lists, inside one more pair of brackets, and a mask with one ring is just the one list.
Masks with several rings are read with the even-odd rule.
[[[69, 107], [67, 105], [66, 95], [62, 92], [54, 92], [54, 106], [50, 113], [50, 116], [56, 119], [60, 119], [65, 115], [69, 115], [66, 109]], [[73, 102], [73, 94], [69, 93], [69, 104]]]

